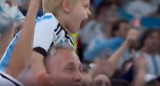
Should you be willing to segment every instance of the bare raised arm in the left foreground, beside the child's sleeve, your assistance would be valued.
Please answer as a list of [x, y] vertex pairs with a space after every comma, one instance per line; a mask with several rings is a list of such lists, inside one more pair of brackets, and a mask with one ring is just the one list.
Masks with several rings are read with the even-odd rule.
[[35, 19], [40, 7], [41, 0], [31, 0], [29, 10], [21, 30], [21, 35], [14, 49], [8, 74], [14, 78], [22, 72], [31, 57]]

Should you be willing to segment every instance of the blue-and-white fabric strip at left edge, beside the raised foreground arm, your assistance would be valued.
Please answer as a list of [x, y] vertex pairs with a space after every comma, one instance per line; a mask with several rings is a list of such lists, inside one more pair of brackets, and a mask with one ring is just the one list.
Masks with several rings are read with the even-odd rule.
[[[9, 44], [1, 62], [0, 62], [0, 71], [6, 72], [6, 69], [8, 68], [9, 62], [11, 60], [11, 56], [13, 54], [13, 50], [15, 48], [15, 45], [20, 37], [20, 32], [15, 36], [15, 38], [12, 40], [12, 42]], [[18, 62], [18, 61], [17, 61]]]

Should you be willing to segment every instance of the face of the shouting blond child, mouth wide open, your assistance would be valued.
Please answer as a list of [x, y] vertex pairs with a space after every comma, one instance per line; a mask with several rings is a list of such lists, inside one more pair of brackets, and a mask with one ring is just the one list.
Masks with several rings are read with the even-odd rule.
[[91, 14], [89, 10], [90, 0], [79, 0], [70, 11], [70, 21], [68, 24], [68, 30], [71, 33], [76, 33], [80, 30], [81, 23], [88, 19]]

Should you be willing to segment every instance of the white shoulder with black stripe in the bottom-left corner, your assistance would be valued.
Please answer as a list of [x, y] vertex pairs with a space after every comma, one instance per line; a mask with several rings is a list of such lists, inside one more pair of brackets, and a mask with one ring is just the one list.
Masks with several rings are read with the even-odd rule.
[[6, 73], [0, 72], [0, 86], [24, 86], [21, 82], [9, 76]]

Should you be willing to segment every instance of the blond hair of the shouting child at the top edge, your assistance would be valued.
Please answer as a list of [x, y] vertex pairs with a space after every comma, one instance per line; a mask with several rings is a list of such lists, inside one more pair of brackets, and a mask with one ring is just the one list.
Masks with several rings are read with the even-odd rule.
[[[64, 0], [43, 0], [43, 11], [51, 12], [53, 14], [57, 14], [58, 11], [62, 8], [62, 3]], [[79, 0], [66, 0], [69, 5], [73, 6]]]

